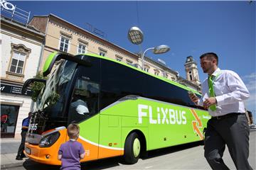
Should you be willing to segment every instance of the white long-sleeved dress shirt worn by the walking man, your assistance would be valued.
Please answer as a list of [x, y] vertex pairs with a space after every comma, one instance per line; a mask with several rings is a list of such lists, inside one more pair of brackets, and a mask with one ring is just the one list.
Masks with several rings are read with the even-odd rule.
[[[217, 104], [216, 111], [211, 111], [208, 108], [210, 115], [220, 116], [228, 113], [245, 113], [243, 101], [249, 98], [250, 94], [238, 74], [218, 68], [212, 75], [215, 76], [213, 78], [213, 88]], [[208, 78], [203, 81], [202, 97], [198, 101], [198, 105], [203, 106], [203, 101], [206, 98], [210, 98]]]

